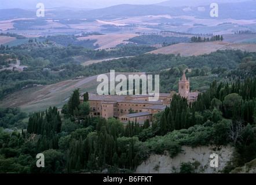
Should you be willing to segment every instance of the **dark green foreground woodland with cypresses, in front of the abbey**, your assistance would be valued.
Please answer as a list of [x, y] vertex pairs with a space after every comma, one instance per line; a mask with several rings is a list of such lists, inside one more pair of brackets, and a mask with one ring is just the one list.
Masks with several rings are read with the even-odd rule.
[[[222, 171], [230, 172], [256, 157], [256, 80], [232, 75], [236, 83], [214, 81], [192, 104], [174, 95], [170, 108], [154, 115], [152, 127], [149, 120], [124, 127], [114, 118], [89, 117], [89, 103], [79, 102], [76, 89], [61, 113], [56, 107], [35, 112], [27, 131], [0, 132], [1, 172], [133, 172], [152, 153], [167, 150], [174, 157], [182, 145], [228, 143], [237, 152]], [[37, 153], [45, 154], [47, 168], [36, 167]]]

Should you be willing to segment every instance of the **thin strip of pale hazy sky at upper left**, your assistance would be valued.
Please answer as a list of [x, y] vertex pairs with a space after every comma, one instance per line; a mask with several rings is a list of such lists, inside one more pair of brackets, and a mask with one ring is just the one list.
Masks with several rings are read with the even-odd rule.
[[67, 6], [72, 8], [104, 8], [119, 4], [147, 5], [166, 0], [0, 0], [0, 9], [21, 8], [32, 9], [37, 3], [44, 3], [45, 8]]

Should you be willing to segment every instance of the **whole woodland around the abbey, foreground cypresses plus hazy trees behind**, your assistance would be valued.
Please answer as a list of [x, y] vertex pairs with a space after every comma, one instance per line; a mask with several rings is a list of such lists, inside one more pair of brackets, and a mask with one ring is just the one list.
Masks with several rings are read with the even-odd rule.
[[[224, 173], [254, 160], [256, 53], [218, 50], [191, 57], [143, 54], [148, 50], [152, 47], [92, 50], [70, 45], [2, 50], [1, 62], [11, 56], [28, 67], [22, 72], [0, 71], [1, 98], [34, 84], [54, 84], [78, 76], [108, 73], [111, 69], [159, 74], [160, 91], [168, 93], [178, 91], [178, 78], [185, 72], [191, 90], [202, 93], [198, 101], [189, 104], [185, 98], [174, 95], [170, 108], [153, 116], [152, 125], [149, 120], [143, 125], [135, 121], [124, 126], [115, 118], [90, 117], [86, 96], [84, 102], [79, 102], [79, 89], [67, 97], [61, 110], [54, 105], [30, 114], [19, 108], [1, 109], [0, 173], [101, 173], [105, 169], [108, 173], [132, 173], [151, 154], [168, 151], [174, 157], [181, 152], [182, 145], [235, 146], [235, 156]], [[138, 55], [87, 66], [74, 59], [131, 53]], [[45, 168], [35, 165], [38, 153], [46, 156]]]

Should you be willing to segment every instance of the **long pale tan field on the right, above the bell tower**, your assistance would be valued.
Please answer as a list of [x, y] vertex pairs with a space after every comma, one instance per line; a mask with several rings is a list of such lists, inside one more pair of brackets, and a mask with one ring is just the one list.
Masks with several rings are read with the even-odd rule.
[[242, 50], [253, 52], [256, 51], [255, 44], [227, 43], [227, 42], [194, 42], [179, 43], [163, 47], [149, 53], [155, 54], [181, 54], [181, 56], [198, 56], [200, 54], [209, 54], [217, 50]]

